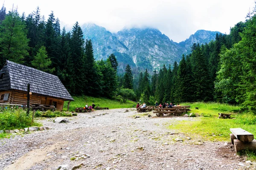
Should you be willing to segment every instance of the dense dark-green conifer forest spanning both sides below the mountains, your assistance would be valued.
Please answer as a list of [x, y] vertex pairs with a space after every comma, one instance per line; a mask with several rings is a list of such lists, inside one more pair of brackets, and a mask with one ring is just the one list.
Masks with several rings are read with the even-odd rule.
[[215, 101], [241, 104], [256, 113], [256, 11], [245, 22], [216, 34], [209, 44], [193, 44], [191, 54], [174, 65], [132, 74], [130, 65], [117, 75], [111, 54], [95, 61], [91, 40], [76, 22], [61, 29], [53, 12], [47, 20], [36, 8], [27, 16], [0, 10], [0, 64], [6, 59], [57, 75], [72, 95], [117, 97], [154, 105], [163, 102]]

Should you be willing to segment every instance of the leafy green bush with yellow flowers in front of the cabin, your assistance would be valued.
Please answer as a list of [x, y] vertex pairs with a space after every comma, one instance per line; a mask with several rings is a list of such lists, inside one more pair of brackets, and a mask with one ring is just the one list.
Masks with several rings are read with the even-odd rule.
[[0, 130], [20, 129], [36, 125], [39, 124], [32, 122], [32, 112], [29, 116], [23, 109], [8, 108], [0, 112]]

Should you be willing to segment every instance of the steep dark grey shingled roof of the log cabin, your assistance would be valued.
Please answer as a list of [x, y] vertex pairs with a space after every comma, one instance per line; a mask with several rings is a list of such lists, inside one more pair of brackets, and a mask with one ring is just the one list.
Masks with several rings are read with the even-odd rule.
[[27, 91], [27, 84], [30, 83], [32, 93], [74, 100], [57, 76], [35, 68], [6, 60], [0, 75], [3, 76], [0, 77], [0, 90]]

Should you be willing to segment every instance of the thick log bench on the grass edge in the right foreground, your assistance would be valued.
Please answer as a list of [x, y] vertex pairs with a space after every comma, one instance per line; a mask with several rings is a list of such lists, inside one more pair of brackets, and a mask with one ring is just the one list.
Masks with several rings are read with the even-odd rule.
[[252, 133], [241, 128], [230, 128], [230, 131], [230, 140], [235, 146], [236, 153], [244, 149], [256, 150], [256, 140]]

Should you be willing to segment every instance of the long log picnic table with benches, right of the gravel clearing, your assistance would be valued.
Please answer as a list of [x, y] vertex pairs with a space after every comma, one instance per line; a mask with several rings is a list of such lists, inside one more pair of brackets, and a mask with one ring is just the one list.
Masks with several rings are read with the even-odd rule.
[[153, 113], [156, 113], [156, 115], [163, 116], [164, 114], [174, 115], [174, 116], [180, 116], [182, 113], [186, 113], [187, 111], [190, 111], [190, 106], [172, 106], [172, 108], [162, 108], [158, 107], [155, 108], [155, 111]]

